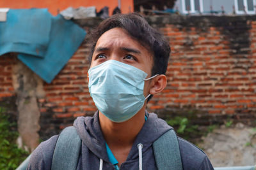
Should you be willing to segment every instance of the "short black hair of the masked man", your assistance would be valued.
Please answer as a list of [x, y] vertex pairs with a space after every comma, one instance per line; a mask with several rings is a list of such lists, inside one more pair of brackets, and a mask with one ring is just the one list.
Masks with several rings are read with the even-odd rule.
[[127, 31], [129, 36], [136, 39], [141, 45], [145, 46], [149, 52], [153, 53], [153, 66], [151, 75], [165, 74], [170, 55], [170, 45], [164, 36], [151, 27], [147, 20], [138, 13], [116, 14], [102, 21], [92, 32], [92, 50], [89, 55], [90, 63], [95, 50], [95, 45], [104, 32], [120, 27]]

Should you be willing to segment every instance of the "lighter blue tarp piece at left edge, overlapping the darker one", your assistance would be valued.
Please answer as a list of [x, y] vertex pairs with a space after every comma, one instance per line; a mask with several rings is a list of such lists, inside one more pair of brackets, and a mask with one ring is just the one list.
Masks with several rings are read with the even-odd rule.
[[44, 57], [51, 18], [47, 9], [9, 10], [6, 22], [0, 22], [0, 55], [18, 52]]

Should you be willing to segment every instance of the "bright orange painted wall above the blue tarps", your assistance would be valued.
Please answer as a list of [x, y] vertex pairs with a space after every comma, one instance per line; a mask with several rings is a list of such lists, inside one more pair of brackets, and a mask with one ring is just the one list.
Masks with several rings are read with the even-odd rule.
[[[108, 6], [109, 15], [111, 15], [115, 7], [118, 6], [118, 0], [0, 0], [0, 8], [48, 8], [52, 15], [57, 15], [58, 10], [65, 10], [69, 6], [74, 8], [96, 6], [97, 11]], [[121, 11], [122, 13], [133, 12], [133, 0], [121, 0]]]

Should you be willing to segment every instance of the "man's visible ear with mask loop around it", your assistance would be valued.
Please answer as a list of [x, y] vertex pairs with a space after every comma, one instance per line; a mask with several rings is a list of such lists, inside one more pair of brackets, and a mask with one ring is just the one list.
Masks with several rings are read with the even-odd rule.
[[154, 95], [163, 91], [164, 88], [166, 87], [166, 83], [167, 83], [167, 80], [164, 74], [160, 74], [156, 76], [156, 78], [154, 78], [150, 83], [151, 87], [150, 87], [149, 93]]

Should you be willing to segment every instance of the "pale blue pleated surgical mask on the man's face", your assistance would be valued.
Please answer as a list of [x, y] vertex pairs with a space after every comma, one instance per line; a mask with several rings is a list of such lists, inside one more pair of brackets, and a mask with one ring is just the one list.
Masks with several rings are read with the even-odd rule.
[[90, 68], [88, 76], [95, 105], [113, 122], [125, 122], [138, 113], [150, 96], [143, 94], [144, 81], [155, 77], [145, 79], [144, 71], [116, 60]]

